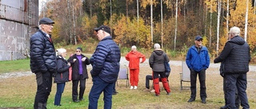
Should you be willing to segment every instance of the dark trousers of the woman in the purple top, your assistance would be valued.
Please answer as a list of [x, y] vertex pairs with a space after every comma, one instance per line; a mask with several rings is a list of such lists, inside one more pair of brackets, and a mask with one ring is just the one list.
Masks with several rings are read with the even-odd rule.
[[82, 79], [82, 75], [79, 76], [78, 80], [72, 80], [72, 99], [77, 100], [78, 99], [78, 83], [80, 81], [79, 85], [79, 99], [83, 99], [83, 94], [86, 90], [86, 80]]

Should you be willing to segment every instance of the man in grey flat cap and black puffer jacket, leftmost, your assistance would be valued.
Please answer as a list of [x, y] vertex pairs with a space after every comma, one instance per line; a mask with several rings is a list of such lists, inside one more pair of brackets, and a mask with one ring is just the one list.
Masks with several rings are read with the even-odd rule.
[[34, 109], [45, 109], [52, 86], [52, 76], [56, 72], [57, 61], [51, 32], [54, 21], [42, 18], [39, 29], [30, 38], [30, 69], [36, 75], [37, 92], [34, 99]]

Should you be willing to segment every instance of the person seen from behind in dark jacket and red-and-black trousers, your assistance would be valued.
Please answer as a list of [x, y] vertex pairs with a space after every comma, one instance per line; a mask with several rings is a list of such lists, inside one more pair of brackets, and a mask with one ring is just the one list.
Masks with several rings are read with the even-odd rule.
[[167, 95], [170, 95], [170, 86], [168, 84], [167, 81], [167, 77], [166, 77], [166, 72], [165, 72], [165, 62], [169, 62], [169, 58], [166, 55], [166, 53], [164, 53], [162, 51], [162, 49], [160, 48], [160, 45], [154, 44], [154, 52], [151, 53], [150, 59], [149, 59], [149, 63], [150, 63], [150, 68], [152, 68], [153, 71], [153, 83], [154, 83], [154, 93], [156, 96], [160, 95], [160, 88], [159, 88], [159, 77], [158, 75], [161, 76], [161, 80], [162, 80], [162, 85], [163, 88], [165, 88]]

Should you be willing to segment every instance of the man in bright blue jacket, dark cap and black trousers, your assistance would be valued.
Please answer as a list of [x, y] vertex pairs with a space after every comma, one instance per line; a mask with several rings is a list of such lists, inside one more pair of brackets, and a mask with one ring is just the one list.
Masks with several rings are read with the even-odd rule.
[[186, 65], [190, 68], [190, 99], [189, 103], [193, 102], [197, 94], [197, 76], [200, 82], [200, 98], [202, 103], [206, 103], [206, 69], [210, 65], [210, 56], [208, 49], [202, 46], [202, 37], [194, 38], [194, 45], [190, 47], [186, 54]]

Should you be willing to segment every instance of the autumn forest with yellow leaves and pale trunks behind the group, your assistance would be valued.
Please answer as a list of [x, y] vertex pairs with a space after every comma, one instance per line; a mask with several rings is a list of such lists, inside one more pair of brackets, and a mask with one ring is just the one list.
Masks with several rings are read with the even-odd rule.
[[232, 26], [250, 45], [255, 58], [254, 0], [50, 0], [43, 2], [40, 18], [55, 21], [54, 42], [83, 44], [95, 39], [94, 28], [108, 25], [120, 47], [183, 52], [203, 37], [211, 56], [222, 51]]

